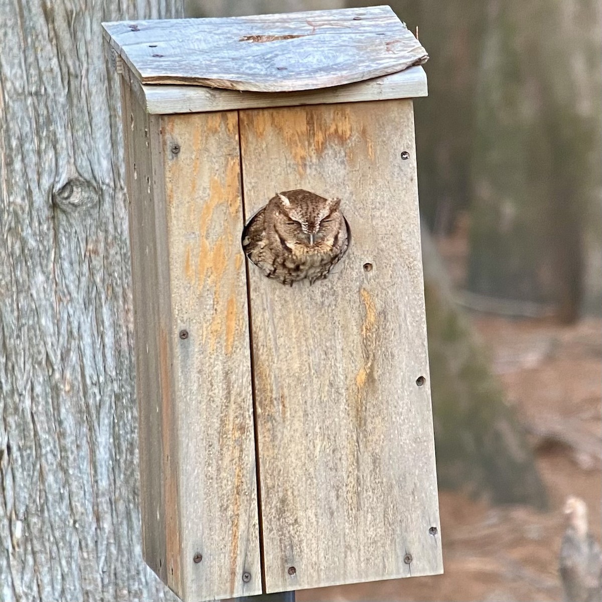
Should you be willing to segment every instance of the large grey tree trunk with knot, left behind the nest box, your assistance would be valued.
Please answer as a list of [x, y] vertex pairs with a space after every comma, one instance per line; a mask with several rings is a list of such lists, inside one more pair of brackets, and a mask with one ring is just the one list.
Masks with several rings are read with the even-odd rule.
[[100, 23], [174, 4], [0, 0], [3, 602], [164, 598], [141, 558], [119, 87]]

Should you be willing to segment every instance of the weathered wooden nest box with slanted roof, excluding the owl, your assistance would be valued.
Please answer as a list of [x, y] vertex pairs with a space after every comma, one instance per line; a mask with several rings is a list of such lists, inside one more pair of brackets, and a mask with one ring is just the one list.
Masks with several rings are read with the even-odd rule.
[[[121, 74], [143, 553], [185, 601], [442, 572], [412, 98], [388, 7], [105, 23]], [[326, 279], [241, 246], [340, 197]]]

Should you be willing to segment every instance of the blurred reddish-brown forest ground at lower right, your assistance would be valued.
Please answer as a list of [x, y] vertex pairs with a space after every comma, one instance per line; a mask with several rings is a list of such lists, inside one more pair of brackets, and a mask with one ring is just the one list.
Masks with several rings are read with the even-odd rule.
[[560, 601], [568, 495], [586, 501], [600, 541], [602, 320], [567, 327], [542, 318], [472, 318], [532, 442], [550, 509], [493, 507], [441, 491], [444, 575], [299, 591], [297, 601]]

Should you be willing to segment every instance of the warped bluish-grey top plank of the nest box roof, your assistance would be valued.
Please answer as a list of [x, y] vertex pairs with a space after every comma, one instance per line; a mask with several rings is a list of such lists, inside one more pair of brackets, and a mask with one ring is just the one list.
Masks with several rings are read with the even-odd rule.
[[387, 75], [428, 58], [386, 6], [103, 25], [146, 84], [290, 92]]

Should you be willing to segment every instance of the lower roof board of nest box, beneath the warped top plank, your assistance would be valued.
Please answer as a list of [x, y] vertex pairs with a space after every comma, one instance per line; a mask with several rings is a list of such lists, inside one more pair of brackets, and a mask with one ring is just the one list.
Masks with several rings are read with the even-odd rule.
[[[131, 73], [129, 69], [126, 71]], [[393, 98], [427, 96], [426, 73], [420, 66], [409, 67], [367, 81], [323, 90], [300, 92], [238, 92], [193, 85], [141, 85], [131, 75], [132, 85], [149, 113], [201, 113], [260, 107], [294, 107], [337, 102], [385, 101]]]

